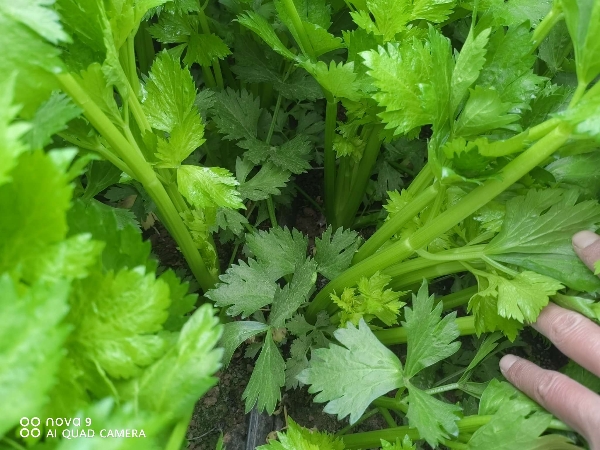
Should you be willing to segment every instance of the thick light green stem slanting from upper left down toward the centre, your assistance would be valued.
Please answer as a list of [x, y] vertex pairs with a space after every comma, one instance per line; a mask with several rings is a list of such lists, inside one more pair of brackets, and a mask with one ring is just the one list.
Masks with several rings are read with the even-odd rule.
[[209, 272], [188, 229], [181, 220], [179, 212], [169, 198], [165, 187], [156, 177], [156, 173], [152, 170], [152, 167], [125, 139], [110, 119], [106, 117], [96, 103], [79, 86], [71, 74], [58, 74], [57, 79], [65, 92], [83, 109], [85, 117], [106, 139], [112, 149], [118, 153], [118, 156], [131, 169], [134, 177], [142, 183], [146, 192], [152, 197], [160, 213], [160, 218], [177, 241], [181, 252], [202, 289], [207, 291], [213, 287], [217, 282], [217, 275]]

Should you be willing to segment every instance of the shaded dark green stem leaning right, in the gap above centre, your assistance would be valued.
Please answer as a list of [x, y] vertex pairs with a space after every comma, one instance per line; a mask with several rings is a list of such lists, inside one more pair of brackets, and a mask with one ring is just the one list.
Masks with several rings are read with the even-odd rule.
[[379, 133], [382, 129], [383, 125], [375, 125], [369, 133], [369, 139], [367, 139], [360, 165], [356, 168], [356, 176], [353, 177], [350, 192], [345, 194], [347, 196], [347, 201], [343, 206], [336, 205], [337, 207], [342, 206], [341, 210], [338, 210], [338, 214], [336, 214], [339, 226], [350, 228], [352, 222], [354, 222], [354, 217], [362, 203], [365, 190], [367, 189], [367, 183], [369, 182], [369, 178], [371, 178], [373, 167], [379, 156], [379, 149], [381, 147]]

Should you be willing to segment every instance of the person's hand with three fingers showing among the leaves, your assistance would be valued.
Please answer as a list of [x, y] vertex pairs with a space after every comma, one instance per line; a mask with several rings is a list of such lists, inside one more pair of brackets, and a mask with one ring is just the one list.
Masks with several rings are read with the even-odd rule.
[[[579, 232], [573, 236], [573, 247], [593, 270], [600, 260], [600, 236]], [[600, 327], [594, 322], [550, 303], [532, 326], [569, 358], [600, 376]], [[584, 436], [592, 450], [600, 450], [600, 396], [566, 375], [514, 355], [500, 360], [500, 370], [517, 389]]]

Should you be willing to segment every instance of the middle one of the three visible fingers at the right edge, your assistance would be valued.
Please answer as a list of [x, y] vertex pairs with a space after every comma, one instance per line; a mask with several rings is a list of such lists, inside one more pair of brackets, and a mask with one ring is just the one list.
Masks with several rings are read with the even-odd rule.
[[600, 327], [590, 319], [549, 303], [532, 326], [562, 353], [600, 376]]

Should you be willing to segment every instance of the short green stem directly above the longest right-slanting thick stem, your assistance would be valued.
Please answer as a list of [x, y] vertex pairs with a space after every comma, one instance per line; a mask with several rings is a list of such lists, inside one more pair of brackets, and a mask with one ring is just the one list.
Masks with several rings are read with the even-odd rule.
[[404, 225], [410, 222], [423, 209], [425, 209], [437, 196], [439, 184], [434, 184], [421, 192], [413, 201], [398, 211], [390, 220], [385, 222], [379, 230], [365, 242], [352, 259], [352, 264], [357, 264], [373, 255], [394, 234], [398, 233]]

